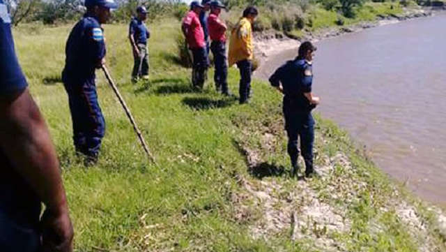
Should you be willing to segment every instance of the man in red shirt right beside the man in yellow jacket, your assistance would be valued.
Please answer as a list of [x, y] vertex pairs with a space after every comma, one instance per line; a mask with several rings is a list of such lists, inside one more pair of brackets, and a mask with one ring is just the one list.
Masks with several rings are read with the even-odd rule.
[[215, 73], [214, 81], [217, 91], [229, 96], [228, 89], [228, 64], [226, 63], [226, 24], [218, 17], [222, 12], [222, 8], [226, 8], [220, 1], [210, 2], [210, 15], [208, 17], [208, 31], [210, 40], [210, 50], [214, 54]]

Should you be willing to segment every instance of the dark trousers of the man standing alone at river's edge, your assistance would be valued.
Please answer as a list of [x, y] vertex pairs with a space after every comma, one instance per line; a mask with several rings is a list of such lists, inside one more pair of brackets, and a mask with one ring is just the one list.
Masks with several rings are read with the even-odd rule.
[[291, 165], [298, 164], [298, 138], [306, 172], [313, 172], [314, 119], [311, 112], [297, 112], [284, 108], [285, 130], [288, 134], [288, 154]]

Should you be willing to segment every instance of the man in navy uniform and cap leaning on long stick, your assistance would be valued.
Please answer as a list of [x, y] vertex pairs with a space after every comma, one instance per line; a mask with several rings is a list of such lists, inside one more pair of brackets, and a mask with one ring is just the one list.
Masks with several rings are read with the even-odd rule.
[[68, 94], [73, 140], [87, 163], [98, 160], [105, 133], [105, 120], [98, 103], [95, 69], [105, 63], [105, 38], [100, 24], [116, 8], [113, 0], [86, 0], [86, 14], [72, 29], [66, 44], [66, 65], [62, 80]]

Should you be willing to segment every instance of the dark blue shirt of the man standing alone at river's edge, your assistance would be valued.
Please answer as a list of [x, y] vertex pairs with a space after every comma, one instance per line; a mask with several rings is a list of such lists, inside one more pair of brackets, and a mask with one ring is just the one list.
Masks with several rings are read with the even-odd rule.
[[313, 70], [312, 65], [305, 59], [287, 61], [277, 68], [270, 77], [273, 87], [282, 83], [284, 89], [284, 109], [308, 112], [314, 108], [304, 93], [312, 91]]

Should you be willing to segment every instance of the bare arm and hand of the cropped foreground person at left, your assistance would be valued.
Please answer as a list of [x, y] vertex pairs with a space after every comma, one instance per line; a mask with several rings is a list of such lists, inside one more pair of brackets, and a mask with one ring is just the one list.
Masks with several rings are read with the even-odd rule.
[[[53, 251], [72, 251], [72, 225], [59, 161], [49, 132], [28, 89], [0, 99], [0, 147], [47, 209], [43, 243]], [[45, 232], [52, 237], [45, 237]]]

